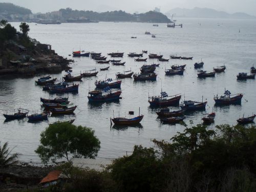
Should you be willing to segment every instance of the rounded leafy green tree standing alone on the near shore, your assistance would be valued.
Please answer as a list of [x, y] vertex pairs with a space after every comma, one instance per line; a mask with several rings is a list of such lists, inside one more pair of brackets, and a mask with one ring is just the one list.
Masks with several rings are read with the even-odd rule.
[[100, 141], [91, 128], [70, 123], [55, 123], [41, 133], [41, 139], [35, 152], [42, 162], [69, 156], [76, 158], [95, 158], [100, 148]]

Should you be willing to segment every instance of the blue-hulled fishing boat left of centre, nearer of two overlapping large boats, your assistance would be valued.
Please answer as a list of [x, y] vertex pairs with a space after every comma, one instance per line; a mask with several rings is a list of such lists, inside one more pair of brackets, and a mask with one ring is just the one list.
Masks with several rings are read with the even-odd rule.
[[106, 102], [119, 100], [122, 91], [112, 92], [109, 87], [101, 90], [94, 90], [88, 93], [88, 99], [90, 102]]

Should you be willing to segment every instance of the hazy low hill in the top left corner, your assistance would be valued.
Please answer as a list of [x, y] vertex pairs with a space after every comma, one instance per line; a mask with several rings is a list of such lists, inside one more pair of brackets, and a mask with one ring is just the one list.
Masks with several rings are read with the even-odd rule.
[[8, 13], [26, 15], [32, 13], [30, 9], [19, 7], [11, 3], [0, 3], [0, 13], [7, 11]]

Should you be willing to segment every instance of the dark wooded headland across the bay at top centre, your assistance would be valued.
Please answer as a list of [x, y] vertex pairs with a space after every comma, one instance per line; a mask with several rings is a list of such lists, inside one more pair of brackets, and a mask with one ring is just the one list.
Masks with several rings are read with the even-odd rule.
[[148, 11], [146, 13], [131, 14], [125, 11], [107, 11], [98, 13], [94, 11], [79, 11], [71, 8], [60, 9], [62, 17], [66, 19], [77, 19], [79, 17], [86, 17], [90, 20], [98, 20], [104, 22], [150, 22], [150, 23], [167, 23], [170, 22], [168, 17], [162, 13]]

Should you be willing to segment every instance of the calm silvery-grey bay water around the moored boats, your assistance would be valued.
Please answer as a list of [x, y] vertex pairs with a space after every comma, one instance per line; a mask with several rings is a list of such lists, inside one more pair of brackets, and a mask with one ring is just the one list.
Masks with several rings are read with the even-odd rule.
[[[16, 146], [14, 151], [22, 153], [21, 160], [39, 162], [34, 150], [39, 144], [40, 133], [45, 130], [48, 123], [56, 120], [64, 121], [75, 118], [74, 124], [92, 127], [96, 136], [101, 141], [98, 154], [101, 158], [116, 158], [125, 155], [126, 151], [132, 152], [135, 144], [153, 146], [151, 139], [169, 140], [177, 132], [182, 132], [184, 127], [177, 125], [161, 124], [157, 119], [156, 109], [149, 107], [148, 94], [159, 95], [161, 87], [169, 95], [183, 94], [182, 99], [201, 101], [202, 96], [208, 101], [206, 111], [194, 112], [184, 120], [189, 124], [201, 123], [203, 114], [216, 112], [216, 120], [209, 129], [222, 123], [236, 124], [236, 119], [256, 113], [256, 82], [254, 79], [237, 81], [239, 72], [249, 72], [253, 63], [256, 65], [256, 20], [218, 20], [218, 19], [180, 19], [183, 28], [169, 29], [166, 24], [153, 27], [152, 24], [141, 23], [98, 23], [98, 24], [61, 24], [61, 25], [30, 25], [29, 35], [42, 43], [52, 45], [52, 49], [59, 55], [67, 58], [74, 50], [101, 52], [125, 52], [124, 66], [111, 66], [96, 64], [87, 57], [74, 58], [73, 74], [83, 70], [91, 70], [110, 66], [109, 71], [100, 71], [97, 77], [84, 78], [80, 82], [78, 94], [49, 95], [42, 91], [40, 86], [35, 86], [33, 78], [0, 77], [0, 113], [5, 110], [13, 111], [19, 106], [32, 111], [40, 111], [40, 97], [54, 98], [56, 96], [69, 97], [69, 100], [78, 105], [74, 115], [50, 117], [49, 121], [29, 123], [28, 119], [5, 122], [0, 116], [0, 141], [9, 141], [10, 147]], [[201, 23], [201, 25], [199, 25]], [[19, 23], [12, 23], [18, 29]], [[241, 29], [241, 33], [239, 33]], [[145, 31], [156, 34], [156, 38], [145, 35]], [[131, 39], [137, 36], [137, 39]], [[88, 91], [95, 88], [94, 81], [115, 78], [115, 73], [130, 70], [139, 72], [143, 62], [135, 62], [134, 58], [127, 57], [129, 52], [140, 53], [148, 50], [150, 53], [161, 53], [164, 58], [170, 54], [193, 56], [193, 60], [170, 60], [161, 62], [156, 69], [158, 74], [155, 82], [134, 82], [133, 78], [123, 79], [121, 84], [122, 99], [119, 102], [90, 104]], [[144, 54], [143, 58], [147, 57]], [[211, 71], [213, 67], [225, 64], [225, 73], [216, 74], [215, 78], [198, 79], [194, 63], [204, 61], [204, 70]], [[147, 59], [147, 64], [157, 63], [156, 59]], [[183, 76], [165, 76], [164, 69], [178, 64], [186, 64]], [[58, 79], [63, 76], [56, 74]], [[162, 86], [161, 86], [162, 85]], [[241, 105], [214, 106], [214, 95], [221, 95], [224, 89], [232, 94], [244, 93]], [[246, 100], [248, 101], [246, 101]], [[135, 111], [135, 115], [144, 114], [140, 126], [119, 127], [110, 126], [110, 117], [126, 116], [128, 111]], [[178, 108], [173, 108], [178, 109]]]

